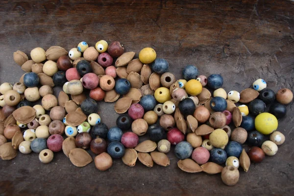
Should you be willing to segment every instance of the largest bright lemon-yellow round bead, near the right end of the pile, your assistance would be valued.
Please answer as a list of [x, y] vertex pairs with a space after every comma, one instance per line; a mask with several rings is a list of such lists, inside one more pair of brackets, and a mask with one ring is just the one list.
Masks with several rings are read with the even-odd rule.
[[261, 113], [255, 118], [255, 128], [262, 134], [268, 135], [278, 128], [278, 120], [270, 113]]

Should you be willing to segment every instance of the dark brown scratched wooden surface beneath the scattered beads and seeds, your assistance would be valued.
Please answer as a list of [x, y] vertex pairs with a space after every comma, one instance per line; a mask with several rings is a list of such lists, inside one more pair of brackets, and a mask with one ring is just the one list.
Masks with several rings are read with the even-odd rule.
[[[2, 0], [0, 5], [0, 83], [24, 73], [13, 52], [80, 41], [120, 41], [126, 51], [152, 47], [170, 63], [170, 72], [194, 64], [201, 74], [221, 73], [228, 92], [241, 92], [263, 78], [277, 92], [294, 86], [294, 2], [291, 0]], [[56, 91], [56, 89], [55, 89]], [[121, 160], [99, 172], [94, 163], [74, 167], [62, 153], [42, 164], [31, 153], [0, 160], [0, 195], [292, 195], [294, 193], [294, 107], [278, 130], [286, 142], [273, 157], [240, 170], [228, 187], [220, 174], [185, 173], [173, 148], [167, 168], [129, 168]], [[99, 103], [102, 122], [115, 125], [113, 104]], [[109, 118], [111, 116], [111, 118]], [[108, 117], [108, 118], [107, 118]], [[91, 154], [93, 157], [94, 155]]]

